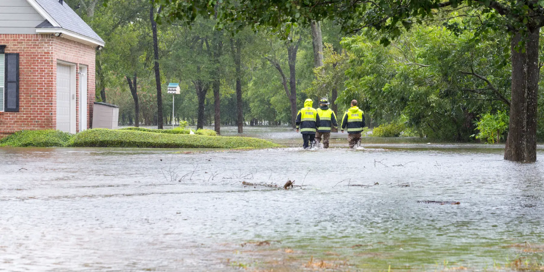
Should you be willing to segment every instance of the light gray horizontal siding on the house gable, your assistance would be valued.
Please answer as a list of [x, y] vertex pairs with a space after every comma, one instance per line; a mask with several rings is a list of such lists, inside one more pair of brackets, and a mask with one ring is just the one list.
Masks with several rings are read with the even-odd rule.
[[44, 20], [27, 0], [0, 0], [0, 34], [36, 34]]

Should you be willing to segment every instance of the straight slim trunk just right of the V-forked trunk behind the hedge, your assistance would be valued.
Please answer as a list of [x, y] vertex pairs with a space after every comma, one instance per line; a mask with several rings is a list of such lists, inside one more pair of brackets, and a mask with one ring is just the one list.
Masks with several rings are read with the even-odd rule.
[[[217, 19], [217, 13], [216, 13], [216, 19]], [[221, 35], [222, 32], [219, 30], [214, 31], [213, 35], [213, 62], [215, 65], [215, 72], [213, 74], [213, 83], [212, 83], [212, 89], [213, 89], [213, 97], [214, 97], [214, 128], [215, 133], [218, 135], [221, 134], [221, 95], [220, 95], [220, 87], [221, 87], [221, 54], [223, 51], [223, 42], [221, 41]]]

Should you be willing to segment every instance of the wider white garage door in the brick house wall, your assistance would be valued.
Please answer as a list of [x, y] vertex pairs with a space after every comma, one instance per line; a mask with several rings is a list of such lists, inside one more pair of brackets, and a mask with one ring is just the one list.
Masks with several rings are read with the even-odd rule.
[[57, 64], [57, 129], [70, 132], [71, 127], [71, 67]]

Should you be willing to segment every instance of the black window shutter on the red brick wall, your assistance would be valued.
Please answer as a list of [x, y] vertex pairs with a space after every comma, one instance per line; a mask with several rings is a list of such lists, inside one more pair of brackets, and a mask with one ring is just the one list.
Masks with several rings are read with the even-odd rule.
[[5, 54], [4, 111], [19, 111], [19, 54]]

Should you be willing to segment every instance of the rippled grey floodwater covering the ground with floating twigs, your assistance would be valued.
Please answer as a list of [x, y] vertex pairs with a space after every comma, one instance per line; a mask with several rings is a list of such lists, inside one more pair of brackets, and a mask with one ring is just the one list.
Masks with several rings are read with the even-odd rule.
[[[301, 145], [288, 128], [245, 135]], [[542, 268], [542, 160], [345, 137], [314, 151], [2, 147], [0, 270]]]

